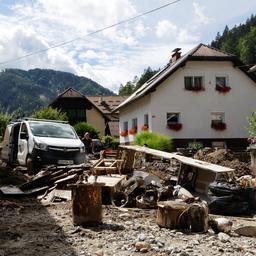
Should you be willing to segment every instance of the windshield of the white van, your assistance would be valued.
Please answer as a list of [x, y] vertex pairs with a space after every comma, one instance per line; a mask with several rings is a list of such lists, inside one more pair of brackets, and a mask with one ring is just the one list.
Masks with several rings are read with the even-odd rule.
[[69, 124], [52, 122], [29, 122], [31, 132], [38, 137], [76, 139], [77, 135]]

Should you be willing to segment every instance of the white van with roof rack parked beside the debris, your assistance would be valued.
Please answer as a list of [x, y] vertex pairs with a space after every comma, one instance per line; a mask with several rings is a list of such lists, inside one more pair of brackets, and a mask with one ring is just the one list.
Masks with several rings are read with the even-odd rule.
[[27, 166], [32, 174], [43, 165], [84, 163], [85, 148], [67, 122], [26, 118], [7, 125], [1, 159]]

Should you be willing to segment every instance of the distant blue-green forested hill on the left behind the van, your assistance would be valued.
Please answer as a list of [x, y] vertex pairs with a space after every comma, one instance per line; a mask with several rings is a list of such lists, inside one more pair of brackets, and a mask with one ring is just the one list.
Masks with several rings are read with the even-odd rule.
[[29, 114], [48, 105], [66, 88], [84, 95], [114, 93], [86, 77], [48, 69], [6, 69], [0, 72], [0, 107], [9, 113]]

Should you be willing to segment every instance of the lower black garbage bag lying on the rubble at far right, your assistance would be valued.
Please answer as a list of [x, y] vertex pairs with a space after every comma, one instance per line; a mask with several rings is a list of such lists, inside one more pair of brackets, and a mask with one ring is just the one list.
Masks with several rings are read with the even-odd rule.
[[249, 203], [242, 197], [229, 195], [221, 197], [211, 197], [211, 201], [208, 204], [209, 212], [212, 214], [220, 215], [243, 215], [248, 214]]

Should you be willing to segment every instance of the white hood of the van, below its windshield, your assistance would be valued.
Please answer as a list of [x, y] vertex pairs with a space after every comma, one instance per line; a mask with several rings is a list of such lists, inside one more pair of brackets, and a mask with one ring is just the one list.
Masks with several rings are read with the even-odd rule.
[[60, 139], [60, 138], [49, 138], [49, 137], [35, 137], [36, 143], [44, 143], [47, 146], [53, 147], [82, 147], [84, 144], [80, 139]]

